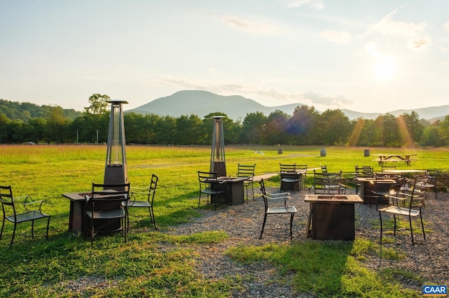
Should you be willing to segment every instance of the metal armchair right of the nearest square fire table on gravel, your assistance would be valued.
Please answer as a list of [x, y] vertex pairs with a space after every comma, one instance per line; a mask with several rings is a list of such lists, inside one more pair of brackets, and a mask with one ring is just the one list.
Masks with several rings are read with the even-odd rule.
[[380, 218], [380, 243], [382, 243], [382, 213], [391, 214], [394, 217], [394, 236], [396, 236], [396, 217], [404, 216], [408, 218], [410, 225], [410, 234], [412, 236], [412, 245], [415, 245], [415, 240], [413, 239], [413, 227], [412, 218], [416, 218], [418, 215], [421, 219], [422, 235], [424, 236], [424, 241], [426, 240], [426, 233], [424, 232], [424, 223], [422, 222], [422, 212], [421, 208], [424, 206], [425, 191], [422, 191], [419, 187], [416, 187], [417, 178], [407, 179], [404, 185], [407, 185], [409, 193], [399, 192], [397, 195], [387, 194], [385, 197], [389, 199], [389, 205], [387, 207], [379, 208]]

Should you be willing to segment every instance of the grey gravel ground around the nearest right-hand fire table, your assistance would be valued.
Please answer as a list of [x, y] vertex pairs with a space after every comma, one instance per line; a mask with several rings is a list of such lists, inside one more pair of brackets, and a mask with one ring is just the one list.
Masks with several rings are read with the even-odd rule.
[[[255, 188], [256, 190], [256, 188]], [[277, 189], [270, 189], [277, 192]], [[351, 192], [351, 190], [348, 190]], [[267, 264], [239, 264], [224, 254], [227, 248], [241, 244], [262, 246], [266, 243], [283, 243], [288, 240], [288, 218], [285, 216], [271, 216], [267, 218], [267, 225], [259, 239], [263, 220], [263, 200], [260, 191], [256, 190], [255, 201], [246, 204], [217, 208], [217, 211], [201, 209], [202, 217], [186, 225], [170, 229], [172, 234], [192, 234], [208, 230], [222, 230], [229, 234], [229, 239], [222, 243], [201, 246], [198, 253], [200, 259], [198, 270], [210, 280], [225, 278], [226, 276], [249, 276], [243, 281], [243, 290], [234, 292], [232, 297], [309, 297], [308, 295], [293, 295], [293, 288], [288, 283], [276, 283], [279, 278], [289, 279], [289, 276], [279, 276], [276, 269]], [[293, 241], [306, 241], [305, 229], [309, 214], [309, 204], [304, 203], [305, 191], [293, 194], [290, 205], [297, 208], [293, 223]], [[427, 241], [422, 233], [415, 234], [415, 246], [412, 246], [410, 233], [396, 235], [396, 241], [382, 244], [383, 248], [394, 247], [406, 253], [406, 260], [401, 262], [382, 259], [370, 255], [364, 261], [370, 269], [379, 270], [393, 267], [408, 269], [419, 274], [425, 281], [437, 285], [449, 285], [449, 194], [439, 193], [435, 199], [433, 193], [428, 194], [426, 207], [423, 211], [424, 227], [427, 231]], [[375, 206], [356, 204], [356, 238], [363, 237], [376, 241], [380, 237], [380, 229], [373, 227], [371, 220], [379, 221], [379, 213]], [[307, 240], [310, 241], [310, 240]], [[269, 282], [269, 283], [268, 283]], [[422, 285], [414, 281], [401, 281], [406, 288], [422, 290]]]

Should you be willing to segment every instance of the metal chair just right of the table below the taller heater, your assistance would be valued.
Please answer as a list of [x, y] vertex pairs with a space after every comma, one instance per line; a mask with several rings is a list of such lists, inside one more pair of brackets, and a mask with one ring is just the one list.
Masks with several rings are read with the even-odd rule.
[[[152, 174], [152, 180], [147, 187], [130, 187], [130, 201], [128, 201], [128, 208], [148, 208], [149, 219], [152, 221], [154, 229], [156, 227], [156, 220], [154, 218], [154, 194], [156, 194], [157, 182], [159, 176]], [[129, 212], [128, 212], [129, 223]], [[129, 227], [129, 225], [128, 225]]]

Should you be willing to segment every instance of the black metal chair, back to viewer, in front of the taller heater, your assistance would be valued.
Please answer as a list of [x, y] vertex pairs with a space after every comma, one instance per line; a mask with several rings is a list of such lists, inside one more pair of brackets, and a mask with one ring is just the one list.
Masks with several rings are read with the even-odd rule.
[[128, 241], [128, 201], [130, 183], [92, 183], [91, 195], [86, 195], [84, 239], [100, 233], [120, 232]]

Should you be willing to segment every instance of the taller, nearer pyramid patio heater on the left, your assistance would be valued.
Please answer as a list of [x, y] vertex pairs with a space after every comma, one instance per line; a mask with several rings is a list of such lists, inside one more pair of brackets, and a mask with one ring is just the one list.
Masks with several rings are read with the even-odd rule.
[[127, 101], [112, 100], [109, 115], [109, 132], [107, 134], [107, 152], [105, 166], [105, 184], [128, 183], [126, 167], [125, 125], [122, 104]]

